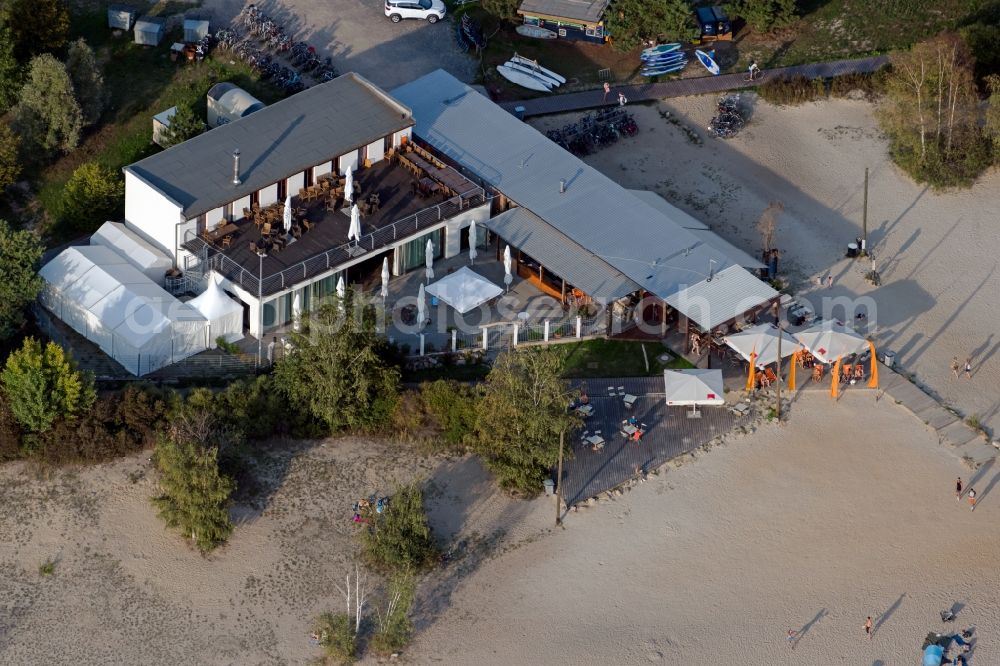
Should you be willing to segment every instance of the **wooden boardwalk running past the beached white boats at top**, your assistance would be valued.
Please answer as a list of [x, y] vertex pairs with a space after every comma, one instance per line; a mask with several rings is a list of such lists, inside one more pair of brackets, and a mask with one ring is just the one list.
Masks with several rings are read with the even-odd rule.
[[[753, 82], [746, 80], [747, 75], [745, 72], [739, 72], [736, 74], [722, 74], [720, 76], [698, 76], [689, 79], [676, 79], [662, 83], [614, 86], [607, 99], [605, 99], [604, 91], [597, 89], [562, 95], [548, 95], [546, 97], [536, 97], [535, 99], [521, 100], [519, 102], [504, 102], [500, 106], [511, 113], [514, 112], [514, 107], [522, 106], [524, 107], [525, 117], [541, 116], [547, 113], [563, 113], [566, 111], [593, 109], [601, 106], [614, 106], [618, 103], [619, 92], [625, 93], [625, 97], [629, 102], [644, 102], [664, 99], [666, 97], [684, 97], [686, 95], [702, 95], [726, 90], [752, 88], [766, 83], [775, 77], [804, 76], [808, 79], [815, 79], [842, 76], [844, 74], [868, 73], [881, 69], [888, 62], [888, 56], [874, 56], [856, 60], [835, 60], [812, 65], [795, 65], [794, 67], [769, 69], [764, 72], [764, 76]], [[692, 63], [692, 66], [700, 65]]]

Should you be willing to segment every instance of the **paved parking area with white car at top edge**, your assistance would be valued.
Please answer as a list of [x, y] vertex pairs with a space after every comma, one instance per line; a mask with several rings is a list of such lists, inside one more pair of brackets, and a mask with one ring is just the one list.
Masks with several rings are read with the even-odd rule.
[[[243, 9], [242, 0], [205, 0], [216, 26], [228, 25]], [[296, 41], [304, 40], [331, 56], [341, 72], [354, 71], [391, 89], [442, 68], [471, 82], [478, 60], [455, 45], [450, 18], [430, 25], [392, 23], [381, 0], [265, 0], [255, 3]]]

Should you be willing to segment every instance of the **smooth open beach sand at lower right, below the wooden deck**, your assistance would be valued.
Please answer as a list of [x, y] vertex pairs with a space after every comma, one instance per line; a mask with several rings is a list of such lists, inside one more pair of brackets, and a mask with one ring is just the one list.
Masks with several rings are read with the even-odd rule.
[[[566, 529], [486, 563], [420, 636], [418, 663], [916, 664], [931, 630], [975, 625], [1000, 662], [1000, 473], [966, 470], [890, 401], [800, 397]], [[959, 621], [938, 611], [964, 604]], [[874, 640], [863, 639], [867, 615]], [[817, 619], [819, 618], [819, 619]], [[792, 652], [789, 628], [803, 630]]]

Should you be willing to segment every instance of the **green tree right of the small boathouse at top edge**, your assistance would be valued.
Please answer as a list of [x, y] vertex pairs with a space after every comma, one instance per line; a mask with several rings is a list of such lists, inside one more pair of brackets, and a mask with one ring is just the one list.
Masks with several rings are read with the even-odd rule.
[[631, 51], [644, 40], [681, 42], [698, 36], [687, 0], [612, 0], [604, 23], [619, 51]]

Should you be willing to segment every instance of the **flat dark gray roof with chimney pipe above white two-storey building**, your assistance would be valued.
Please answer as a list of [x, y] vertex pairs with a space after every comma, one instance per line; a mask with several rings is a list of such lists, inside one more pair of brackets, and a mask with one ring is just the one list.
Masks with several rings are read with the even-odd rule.
[[[188, 219], [413, 125], [410, 110], [344, 74], [125, 167]], [[240, 180], [232, 184], [233, 151]]]

